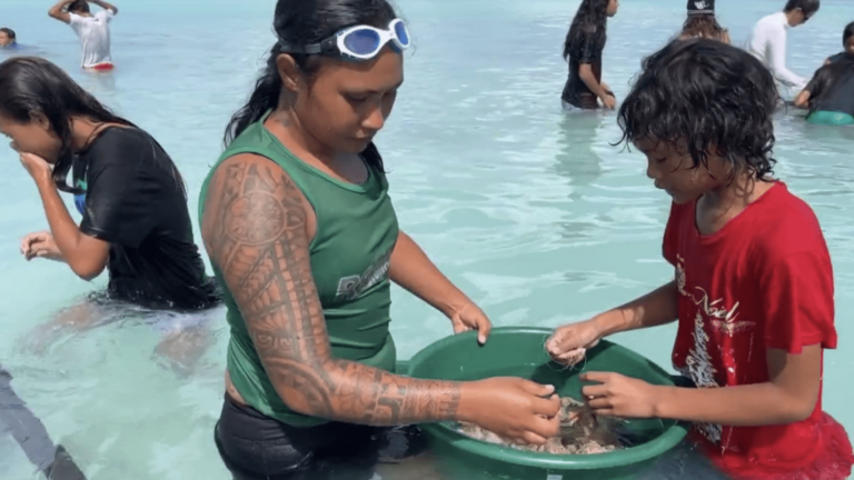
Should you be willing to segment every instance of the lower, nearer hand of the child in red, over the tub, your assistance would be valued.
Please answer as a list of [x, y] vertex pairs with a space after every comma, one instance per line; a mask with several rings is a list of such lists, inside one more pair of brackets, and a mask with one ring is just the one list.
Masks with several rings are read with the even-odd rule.
[[582, 396], [597, 414], [622, 418], [654, 418], [657, 390], [638, 379], [613, 372], [582, 373], [582, 381], [598, 384], [582, 388]]

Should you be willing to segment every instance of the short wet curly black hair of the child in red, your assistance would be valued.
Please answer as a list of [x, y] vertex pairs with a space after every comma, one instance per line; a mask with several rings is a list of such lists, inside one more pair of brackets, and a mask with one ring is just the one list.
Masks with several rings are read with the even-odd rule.
[[744, 50], [709, 39], [677, 40], [643, 61], [617, 113], [619, 143], [665, 142], [694, 168], [709, 154], [769, 179], [776, 160], [774, 77]]

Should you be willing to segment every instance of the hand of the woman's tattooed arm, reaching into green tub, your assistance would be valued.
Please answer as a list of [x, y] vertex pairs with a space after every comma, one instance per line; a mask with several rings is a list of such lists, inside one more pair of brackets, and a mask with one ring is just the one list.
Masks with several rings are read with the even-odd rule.
[[545, 444], [560, 434], [560, 399], [553, 386], [515, 377], [463, 384], [461, 421], [518, 444]]

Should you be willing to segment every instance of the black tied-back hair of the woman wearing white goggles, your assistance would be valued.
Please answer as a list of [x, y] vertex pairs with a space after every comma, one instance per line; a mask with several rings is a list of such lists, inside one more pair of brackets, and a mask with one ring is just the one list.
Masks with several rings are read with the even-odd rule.
[[[366, 24], [385, 29], [396, 17], [387, 0], [278, 0], [274, 31], [284, 43], [302, 46], [318, 43], [347, 27]], [[226, 147], [268, 110], [278, 107], [282, 83], [276, 59], [281, 53], [277, 42], [270, 49], [267, 67], [256, 81], [249, 102], [231, 117], [226, 128]], [[317, 73], [317, 56], [288, 54], [307, 77]], [[378, 167], [381, 170], [381, 161]]]

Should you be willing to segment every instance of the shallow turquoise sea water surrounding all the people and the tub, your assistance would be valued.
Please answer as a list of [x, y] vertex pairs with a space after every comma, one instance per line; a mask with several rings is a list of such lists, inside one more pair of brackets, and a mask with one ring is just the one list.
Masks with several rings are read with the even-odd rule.
[[[721, 0], [722, 23], [742, 42], [751, 24], [783, 0]], [[802, 76], [841, 48], [854, 4], [825, 0], [791, 31], [790, 67]], [[249, 93], [272, 42], [271, 0], [203, 3], [127, 0], [112, 23], [108, 76], [81, 72], [71, 30], [49, 4], [3, 0], [3, 22], [122, 116], [151, 132], [187, 180], [191, 211], [222, 129]], [[578, 1], [401, 0], [417, 48], [378, 146], [390, 168], [401, 227], [500, 326], [555, 327], [587, 318], [667, 281], [661, 258], [668, 199], [646, 179], [645, 159], [609, 143], [613, 114], [566, 116], [560, 47]], [[609, 24], [604, 79], [618, 99], [643, 54], [684, 20], [684, 1], [625, 0]], [[854, 363], [847, 319], [854, 308], [854, 130], [777, 121], [777, 173], [815, 209], [834, 260], [840, 350], [825, 363], [825, 409], [854, 431]], [[211, 429], [222, 399], [228, 331], [189, 378], [155, 361], [161, 333], [115, 322], [63, 338], [48, 351], [30, 331], [93, 284], [64, 266], [28, 263], [20, 238], [47, 228], [34, 184], [0, 148], [0, 363], [13, 387], [89, 479], [226, 479]], [[70, 206], [70, 199], [69, 199]], [[197, 233], [198, 234], [198, 233]], [[439, 313], [394, 290], [393, 330], [403, 357], [450, 333]], [[673, 328], [616, 337], [669, 366]], [[0, 437], [0, 478], [37, 478], [17, 446]]]

